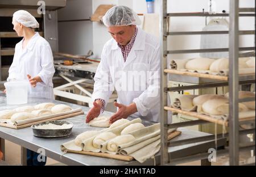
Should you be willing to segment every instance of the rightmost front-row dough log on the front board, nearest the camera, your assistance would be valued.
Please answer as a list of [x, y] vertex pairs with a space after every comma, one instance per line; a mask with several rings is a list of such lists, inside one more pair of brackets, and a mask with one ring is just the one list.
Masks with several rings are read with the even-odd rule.
[[109, 151], [115, 152], [117, 151], [119, 145], [126, 144], [134, 140], [135, 140], [135, 137], [132, 136], [131, 134], [124, 134], [121, 136], [117, 136], [108, 142], [107, 149]]

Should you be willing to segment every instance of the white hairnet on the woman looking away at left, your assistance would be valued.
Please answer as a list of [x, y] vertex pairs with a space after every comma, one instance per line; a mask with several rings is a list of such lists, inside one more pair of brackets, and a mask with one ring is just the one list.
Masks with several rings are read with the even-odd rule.
[[39, 28], [39, 23], [36, 21], [35, 17], [32, 16], [28, 11], [26, 10], [18, 10], [14, 12], [13, 18], [23, 24], [25, 27], [31, 27], [31, 28]]

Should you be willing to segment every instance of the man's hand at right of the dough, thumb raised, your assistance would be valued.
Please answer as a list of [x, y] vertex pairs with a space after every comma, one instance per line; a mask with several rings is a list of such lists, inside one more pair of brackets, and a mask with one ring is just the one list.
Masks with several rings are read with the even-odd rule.
[[135, 103], [131, 103], [129, 106], [125, 106], [123, 104], [114, 102], [114, 106], [118, 107], [118, 111], [112, 117], [110, 117], [110, 124], [113, 124], [118, 119], [127, 119], [127, 117], [137, 112], [137, 107]]

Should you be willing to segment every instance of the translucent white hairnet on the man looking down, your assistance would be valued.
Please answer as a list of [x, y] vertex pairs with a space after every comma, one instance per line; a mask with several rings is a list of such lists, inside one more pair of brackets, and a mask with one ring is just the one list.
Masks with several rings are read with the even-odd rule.
[[141, 19], [129, 7], [114, 6], [102, 18], [106, 27], [140, 25]]

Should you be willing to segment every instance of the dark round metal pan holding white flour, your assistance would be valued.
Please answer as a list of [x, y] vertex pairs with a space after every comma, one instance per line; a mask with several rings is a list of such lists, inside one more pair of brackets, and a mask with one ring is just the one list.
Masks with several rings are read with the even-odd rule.
[[[72, 127], [67, 128], [67, 129], [38, 129], [38, 128], [36, 128], [38, 125], [47, 125], [49, 123], [56, 124], [56, 125], [71, 124]], [[36, 136], [36, 137], [56, 138], [56, 137], [70, 136], [72, 133], [73, 124], [69, 121], [52, 120], [52, 121], [47, 121], [45, 123], [32, 125], [31, 128], [33, 130], [34, 136]]]

